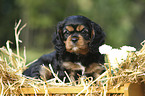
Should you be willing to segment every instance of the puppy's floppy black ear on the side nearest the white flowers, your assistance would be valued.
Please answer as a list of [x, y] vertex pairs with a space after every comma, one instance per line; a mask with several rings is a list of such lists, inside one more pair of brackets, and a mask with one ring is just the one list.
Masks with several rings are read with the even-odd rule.
[[91, 33], [91, 41], [89, 44], [89, 50], [92, 53], [99, 52], [99, 46], [101, 46], [105, 41], [105, 33], [103, 32], [102, 28], [94, 23], [91, 22], [92, 26], [92, 33]]

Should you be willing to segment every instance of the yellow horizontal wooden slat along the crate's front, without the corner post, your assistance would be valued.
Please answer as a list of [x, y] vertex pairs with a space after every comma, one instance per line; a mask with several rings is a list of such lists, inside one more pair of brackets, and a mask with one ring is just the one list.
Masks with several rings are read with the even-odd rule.
[[[49, 87], [48, 88], [48, 93], [50, 94], [74, 94], [74, 93], [79, 93], [83, 90], [83, 87]], [[89, 93], [91, 93], [91, 89], [89, 89]], [[22, 88], [22, 92], [24, 94], [34, 94], [35, 91], [33, 88]], [[82, 93], [86, 93], [87, 91], [85, 90]], [[44, 88], [39, 88], [37, 91], [37, 94], [44, 94], [45, 89]], [[114, 88], [109, 90], [107, 93], [124, 93], [124, 87], [120, 88]]]

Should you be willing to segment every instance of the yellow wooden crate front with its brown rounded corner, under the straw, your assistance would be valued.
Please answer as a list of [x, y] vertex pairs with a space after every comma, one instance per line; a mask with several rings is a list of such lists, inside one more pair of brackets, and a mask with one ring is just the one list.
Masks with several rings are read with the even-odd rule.
[[[114, 88], [111, 90], [108, 90], [108, 94], [124, 94], [124, 96], [144, 96], [144, 87], [145, 84], [140, 85], [137, 83], [126, 83], [123, 87], [119, 88]], [[49, 87], [48, 88], [48, 93], [49, 94], [66, 94], [66, 96], [72, 96], [72, 94], [78, 94], [84, 89], [84, 87]], [[89, 93], [91, 94], [94, 92], [94, 89], [88, 90]], [[97, 91], [97, 90], [95, 90]], [[34, 88], [22, 88], [22, 92], [24, 94], [35, 94]], [[87, 90], [82, 92], [82, 94], [87, 93]], [[37, 89], [37, 94], [45, 94], [45, 89], [44, 88], [39, 88]]]

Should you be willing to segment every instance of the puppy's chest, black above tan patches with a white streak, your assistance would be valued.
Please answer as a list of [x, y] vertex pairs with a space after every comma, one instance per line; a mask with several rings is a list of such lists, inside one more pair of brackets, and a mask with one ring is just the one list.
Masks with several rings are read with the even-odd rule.
[[80, 75], [99, 73], [98, 71], [102, 70], [102, 66], [95, 62], [96, 59], [97, 58], [94, 58], [92, 55], [83, 57], [67, 55], [63, 58], [62, 67], [71, 72], [81, 71], [82, 74]]

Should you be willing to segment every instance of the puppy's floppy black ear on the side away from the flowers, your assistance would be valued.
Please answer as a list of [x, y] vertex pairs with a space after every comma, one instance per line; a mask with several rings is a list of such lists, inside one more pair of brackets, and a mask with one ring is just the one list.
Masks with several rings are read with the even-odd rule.
[[63, 25], [64, 22], [61, 21], [57, 24], [56, 32], [53, 34], [53, 44], [55, 45], [55, 49], [58, 53], [62, 53], [65, 51], [65, 44], [63, 42]]

